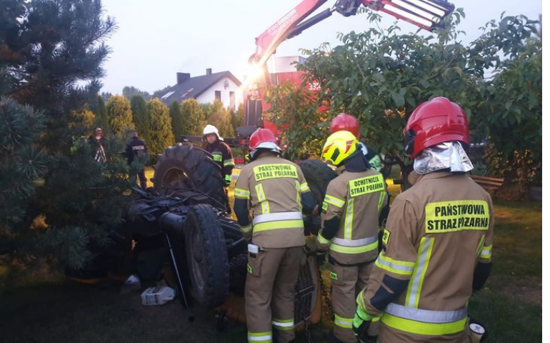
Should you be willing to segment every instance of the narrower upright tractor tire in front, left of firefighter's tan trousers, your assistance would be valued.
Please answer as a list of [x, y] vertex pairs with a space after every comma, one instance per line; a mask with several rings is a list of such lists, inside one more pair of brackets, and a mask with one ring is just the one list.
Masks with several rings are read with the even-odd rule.
[[190, 207], [183, 231], [194, 298], [205, 307], [219, 307], [229, 292], [229, 261], [215, 209], [206, 204]]

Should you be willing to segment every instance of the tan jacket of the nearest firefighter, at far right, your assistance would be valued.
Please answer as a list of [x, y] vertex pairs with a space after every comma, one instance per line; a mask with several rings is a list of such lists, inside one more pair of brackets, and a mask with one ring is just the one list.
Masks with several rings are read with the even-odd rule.
[[[384, 250], [357, 298], [359, 306], [371, 316], [382, 314], [382, 323], [414, 342], [419, 342], [414, 335], [463, 332], [474, 269], [491, 262], [493, 224], [491, 197], [466, 174], [419, 177], [391, 205]], [[382, 313], [373, 303], [379, 289], [391, 289], [386, 275], [409, 284]]]

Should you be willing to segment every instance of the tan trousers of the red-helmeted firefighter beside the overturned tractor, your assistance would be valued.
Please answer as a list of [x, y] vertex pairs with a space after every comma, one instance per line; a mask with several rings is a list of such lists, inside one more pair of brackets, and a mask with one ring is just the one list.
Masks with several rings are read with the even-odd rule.
[[279, 343], [294, 339], [294, 287], [303, 258], [302, 247], [249, 253], [244, 303], [250, 343], [272, 342], [271, 326]]

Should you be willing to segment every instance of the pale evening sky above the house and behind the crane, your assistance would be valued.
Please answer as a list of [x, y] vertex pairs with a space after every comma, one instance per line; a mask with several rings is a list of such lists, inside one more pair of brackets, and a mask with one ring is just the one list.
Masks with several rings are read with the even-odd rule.
[[[118, 29], [106, 43], [112, 52], [104, 63], [106, 76], [101, 91], [121, 94], [124, 86], [153, 93], [176, 84], [176, 72], [191, 76], [229, 70], [244, 79], [254, 39], [291, 11], [300, 0], [103, 0], [106, 14], [113, 16]], [[329, 0], [318, 11], [330, 8]], [[506, 15], [525, 14], [539, 19], [540, 0], [451, 0], [466, 18], [459, 29], [466, 31], [464, 43], [476, 39], [480, 26]], [[380, 12], [381, 13], [381, 12]], [[394, 17], [381, 13], [382, 25]], [[345, 18], [334, 14], [299, 36], [281, 43], [276, 56], [296, 56], [300, 49], [315, 49], [324, 42], [339, 44], [337, 34], [364, 31], [370, 25], [366, 14]], [[401, 21], [402, 31], [416, 26]]]

